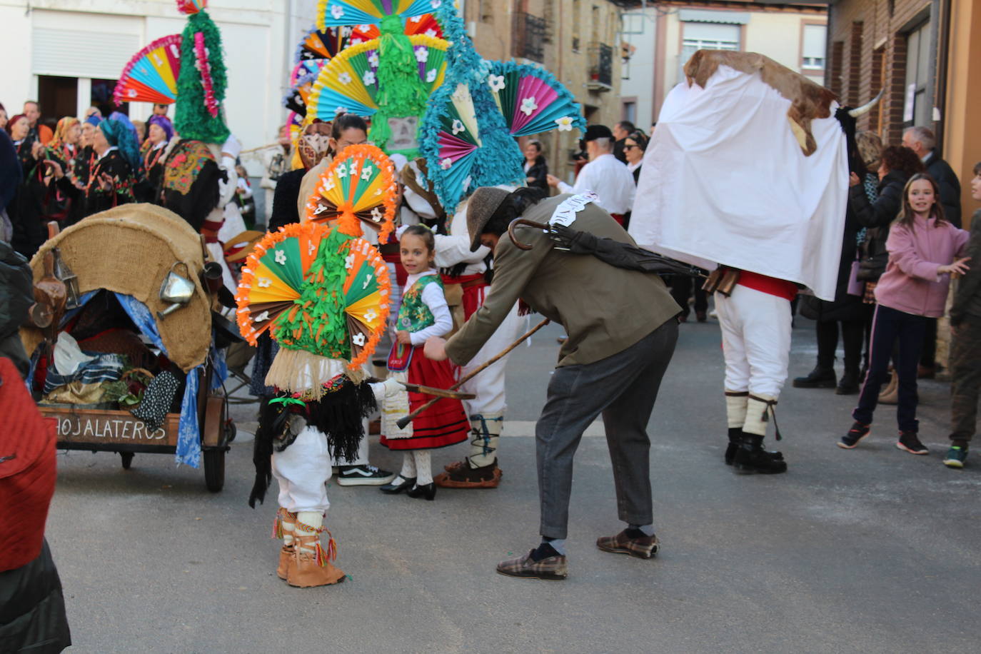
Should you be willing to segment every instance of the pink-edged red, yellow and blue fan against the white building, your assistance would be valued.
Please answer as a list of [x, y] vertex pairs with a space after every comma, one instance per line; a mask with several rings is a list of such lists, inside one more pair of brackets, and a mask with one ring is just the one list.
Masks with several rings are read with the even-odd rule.
[[181, 34], [169, 34], [153, 41], [133, 55], [116, 83], [113, 100], [171, 104], [178, 97], [181, 73]]

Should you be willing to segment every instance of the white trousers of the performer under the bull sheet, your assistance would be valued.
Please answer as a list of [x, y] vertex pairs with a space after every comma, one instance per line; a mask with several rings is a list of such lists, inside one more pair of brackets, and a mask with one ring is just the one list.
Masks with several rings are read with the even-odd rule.
[[732, 295], [715, 293], [722, 327], [726, 390], [776, 398], [787, 380], [791, 352], [791, 303], [737, 284]]

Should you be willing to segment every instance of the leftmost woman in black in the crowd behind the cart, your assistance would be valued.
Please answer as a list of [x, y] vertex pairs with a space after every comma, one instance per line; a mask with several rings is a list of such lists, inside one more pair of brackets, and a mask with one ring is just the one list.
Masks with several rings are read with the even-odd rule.
[[[17, 151], [21, 165], [21, 182], [17, 186], [14, 199], [7, 207], [7, 214], [13, 227], [11, 245], [28, 259], [45, 240], [44, 224], [41, 220], [41, 201], [44, 196], [43, 166], [44, 145], [27, 138], [29, 131], [27, 118], [18, 114], [7, 123], [7, 133]], [[40, 177], [39, 177], [40, 176]]]

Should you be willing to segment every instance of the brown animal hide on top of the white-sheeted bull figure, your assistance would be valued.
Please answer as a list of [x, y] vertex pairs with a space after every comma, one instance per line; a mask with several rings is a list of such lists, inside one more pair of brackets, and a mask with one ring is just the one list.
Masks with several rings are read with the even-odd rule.
[[719, 66], [728, 66], [748, 75], [759, 73], [763, 83], [790, 100], [791, 108], [787, 111], [787, 120], [797, 137], [800, 150], [804, 156], [814, 153], [817, 142], [811, 133], [810, 123], [814, 119], [831, 116], [831, 103], [838, 99], [834, 93], [755, 52], [698, 50], [685, 64], [685, 76], [690, 84], [694, 82], [704, 88], [705, 82], [715, 74]]

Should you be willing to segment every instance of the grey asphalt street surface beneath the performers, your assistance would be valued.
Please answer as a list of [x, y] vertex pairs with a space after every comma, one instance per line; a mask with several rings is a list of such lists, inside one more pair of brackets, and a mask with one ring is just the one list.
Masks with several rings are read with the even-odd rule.
[[[328, 526], [347, 582], [277, 579], [265, 506], [246, 504], [248, 435], [225, 490], [169, 456], [59, 457], [48, 538], [77, 652], [976, 652], [981, 626], [981, 453], [950, 471], [945, 384], [921, 384], [928, 457], [899, 451], [895, 409], [845, 451], [854, 397], [788, 387], [778, 420], [790, 472], [736, 477], [722, 464], [716, 323], [686, 324], [654, 409], [651, 477], [662, 552], [598, 551], [622, 528], [601, 429], [576, 460], [570, 577], [495, 575], [538, 542], [534, 420], [555, 360], [548, 327], [508, 363], [504, 478], [441, 489], [435, 502], [372, 487], [329, 493]], [[813, 328], [795, 330], [791, 377], [813, 366]], [[238, 412], [254, 420], [251, 409]], [[600, 427], [600, 426], [596, 426]], [[768, 441], [770, 442], [770, 441]], [[772, 444], [772, 442], [771, 442]], [[459, 458], [442, 451], [434, 467]], [[373, 444], [374, 463], [398, 455]]]

